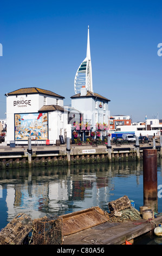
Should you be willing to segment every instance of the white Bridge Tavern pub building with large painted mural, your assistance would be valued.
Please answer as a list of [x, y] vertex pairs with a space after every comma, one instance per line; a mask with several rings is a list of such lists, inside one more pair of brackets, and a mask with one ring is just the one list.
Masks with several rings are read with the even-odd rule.
[[71, 134], [64, 97], [36, 87], [21, 88], [7, 96], [7, 137], [5, 141], [28, 144], [45, 141], [56, 143], [60, 135]]

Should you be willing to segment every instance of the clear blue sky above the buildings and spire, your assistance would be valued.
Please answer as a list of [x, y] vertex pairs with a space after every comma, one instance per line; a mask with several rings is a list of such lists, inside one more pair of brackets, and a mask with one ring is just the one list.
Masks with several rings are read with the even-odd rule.
[[111, 100], [111, 114], [162, 119], [161, 0], [1, 1], [0, 118], [4, 94], [19, 88], [48, 89], [70, 104], [88, 25], [93, 90]]

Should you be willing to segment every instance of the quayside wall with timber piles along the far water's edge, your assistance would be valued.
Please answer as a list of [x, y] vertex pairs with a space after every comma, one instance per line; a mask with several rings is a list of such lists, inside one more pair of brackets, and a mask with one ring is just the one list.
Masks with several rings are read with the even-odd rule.
[[[132, 145], [102, 146], [74, 146], [70, 150], [64, 147], [33, 147], [30, 154], [27, 148], [4, 148], [0, 150], [0, 169], [28, 168], [43, 166], [73, 166], [75, 164], [109, 163], [124, 161], [140, 161], [143, 159], [143, 150], [147, 147], [133, 147]], [[157, 145], [157, 157], [161, 157], [161, 146]]]

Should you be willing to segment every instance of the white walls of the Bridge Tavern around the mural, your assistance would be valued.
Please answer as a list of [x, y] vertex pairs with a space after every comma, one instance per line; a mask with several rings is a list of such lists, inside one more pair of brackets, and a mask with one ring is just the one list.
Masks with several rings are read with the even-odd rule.
[[[28, 94], [26, 95], [10, 95], [7, 96], [7, 136], [5, 141], [9, 143], [15, 139], [15, 120], [14, 114], [22, 113], [37, 113], [44, 105], [44, 96], [46, 96], [46, 105], [56, 105], [56, 99], [59, 99], [59, 106], [63, 106], [63, 99], [59, 97], [53, 97], [40, 94]], [[60, 130], [62, 129], [62, 135], [64, 137], [64, 129], [68, 124], [68, 113], [53, 111], [48, 113], [48, 138], [56, 143], [56, 139], [59, 139]], [[19, 141], [19, 143], [27, 144], [25, 141]]]

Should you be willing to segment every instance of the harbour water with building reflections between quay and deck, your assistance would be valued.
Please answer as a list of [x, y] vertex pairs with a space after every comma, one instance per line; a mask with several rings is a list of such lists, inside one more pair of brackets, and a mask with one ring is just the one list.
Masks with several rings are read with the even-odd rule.
[[[162, 188], [161, 159], [157, 170]], [[162, 212], [162, 192], [158, 192], [158, 212]], [[20, 212], [34, 219], [92, 206], [109, 211], [108, 203], [125, 195], [137, 210], [143, 205], [142, 162], [1, 170], [0, 229]]]

